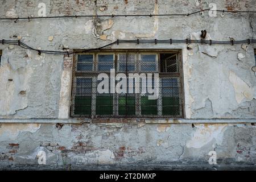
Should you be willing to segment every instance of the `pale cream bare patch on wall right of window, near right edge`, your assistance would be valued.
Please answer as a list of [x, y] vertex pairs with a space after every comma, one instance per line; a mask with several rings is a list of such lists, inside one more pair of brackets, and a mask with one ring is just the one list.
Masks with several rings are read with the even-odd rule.
[[246, 98], [247, 101], [253, 100], [254, 88], [251, 88], [246, 84], [246, 82], [238, 77], [233, 71], [229, 71], [229, 81], [234, 87], [238, 104], [240, 104], [244, 98]]

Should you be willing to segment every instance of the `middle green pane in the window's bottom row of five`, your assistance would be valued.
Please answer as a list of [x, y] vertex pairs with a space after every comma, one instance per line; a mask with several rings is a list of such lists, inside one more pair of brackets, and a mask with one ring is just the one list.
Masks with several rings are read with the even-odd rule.
[[133, 96], [119, 96], [118, 98], [118, 114], [119, 115], [135, 115], [136, 105], [135, 97]]

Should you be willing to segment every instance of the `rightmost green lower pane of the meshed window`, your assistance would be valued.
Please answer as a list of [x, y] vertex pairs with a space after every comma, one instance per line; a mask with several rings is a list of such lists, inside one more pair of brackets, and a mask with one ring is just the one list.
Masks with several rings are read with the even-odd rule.
[[163, 115], [180, 115], [179, 97], [162, 97]]

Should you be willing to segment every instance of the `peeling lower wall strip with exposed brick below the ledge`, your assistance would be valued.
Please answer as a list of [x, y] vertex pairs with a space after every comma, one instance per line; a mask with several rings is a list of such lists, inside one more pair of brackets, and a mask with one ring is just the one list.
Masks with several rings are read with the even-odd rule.
[[3, 170], [254, 170], [256, 126], [2, 123], [0, 152]]

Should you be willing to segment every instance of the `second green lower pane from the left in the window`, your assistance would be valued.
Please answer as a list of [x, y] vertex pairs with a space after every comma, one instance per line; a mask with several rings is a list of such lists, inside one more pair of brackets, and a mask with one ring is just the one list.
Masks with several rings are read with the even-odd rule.
[[96, 97], [96, 115], [113, 114], [113, 96]]

